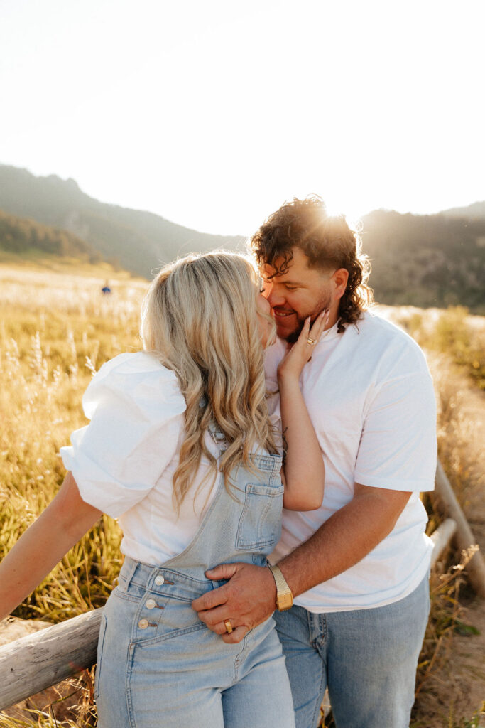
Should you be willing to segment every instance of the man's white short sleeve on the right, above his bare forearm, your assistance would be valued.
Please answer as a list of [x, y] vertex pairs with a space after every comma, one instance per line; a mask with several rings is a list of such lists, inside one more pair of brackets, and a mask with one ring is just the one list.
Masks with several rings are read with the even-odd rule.
[[436, 403], [428, 369], [397, 374], [377, 389], [366, 413], [355, 481], [397, 491], [432, 491]]

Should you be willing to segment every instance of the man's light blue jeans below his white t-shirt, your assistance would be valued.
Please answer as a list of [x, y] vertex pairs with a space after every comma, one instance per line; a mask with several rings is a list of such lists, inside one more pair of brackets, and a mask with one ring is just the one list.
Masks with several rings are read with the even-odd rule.
[[408, 728], [429, 614], [428, 577], [375, 609], [276, 612], [297, 728], [315, 728], [326, 687], [337, 728]]

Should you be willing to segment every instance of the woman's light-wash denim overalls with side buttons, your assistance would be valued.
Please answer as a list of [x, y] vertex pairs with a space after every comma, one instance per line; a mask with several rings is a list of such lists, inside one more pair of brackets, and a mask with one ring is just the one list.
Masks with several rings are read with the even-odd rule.
[[[273, 618], [225, 644], [193, 599], [223, 582], [204, 571], [264, 566], [281, 532], [281, 458], [253, 455], [233, 472], [193, 541], [162, 566], [125, 558], [103, 612], [95, 697], [98, 728], [294, 728], [288, 676]], [[237, 625], [234, 625], [237, 626]]]

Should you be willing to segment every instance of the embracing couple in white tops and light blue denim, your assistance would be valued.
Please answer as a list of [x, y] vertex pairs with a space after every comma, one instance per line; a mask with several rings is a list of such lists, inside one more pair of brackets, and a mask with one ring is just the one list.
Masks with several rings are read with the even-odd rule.
[[108, 513], [124, 564], [100, 728], [315, 728], [326, 687], [338, 728], [407, 728], [430, 374], [367, 310], [360, 240], [321, 199], [281, 207], [251, 247], [257, 270], [215, 252], [153, 281], [143, 352], [95, 375], [63, 485], [0, 565], [0, 617]]

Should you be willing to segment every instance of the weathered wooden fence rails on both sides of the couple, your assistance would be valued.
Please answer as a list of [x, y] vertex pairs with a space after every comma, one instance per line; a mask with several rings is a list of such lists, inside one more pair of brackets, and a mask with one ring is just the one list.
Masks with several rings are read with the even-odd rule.
[[[457, 546], [475, 545], [470, 526], [441, 464], [436, 470], [436, 496], [452, 518], [432, 535], [432, 563], [455, 536]], [[485, 598], [485, 561], [477, 552], [467, 566], [470, 583]], [[96, 662], [97, 636], [103, 609], [80, 614], [59, 625], [36, 632], [0, 647], [0, 711], [36, 692], [71, 677]]]

